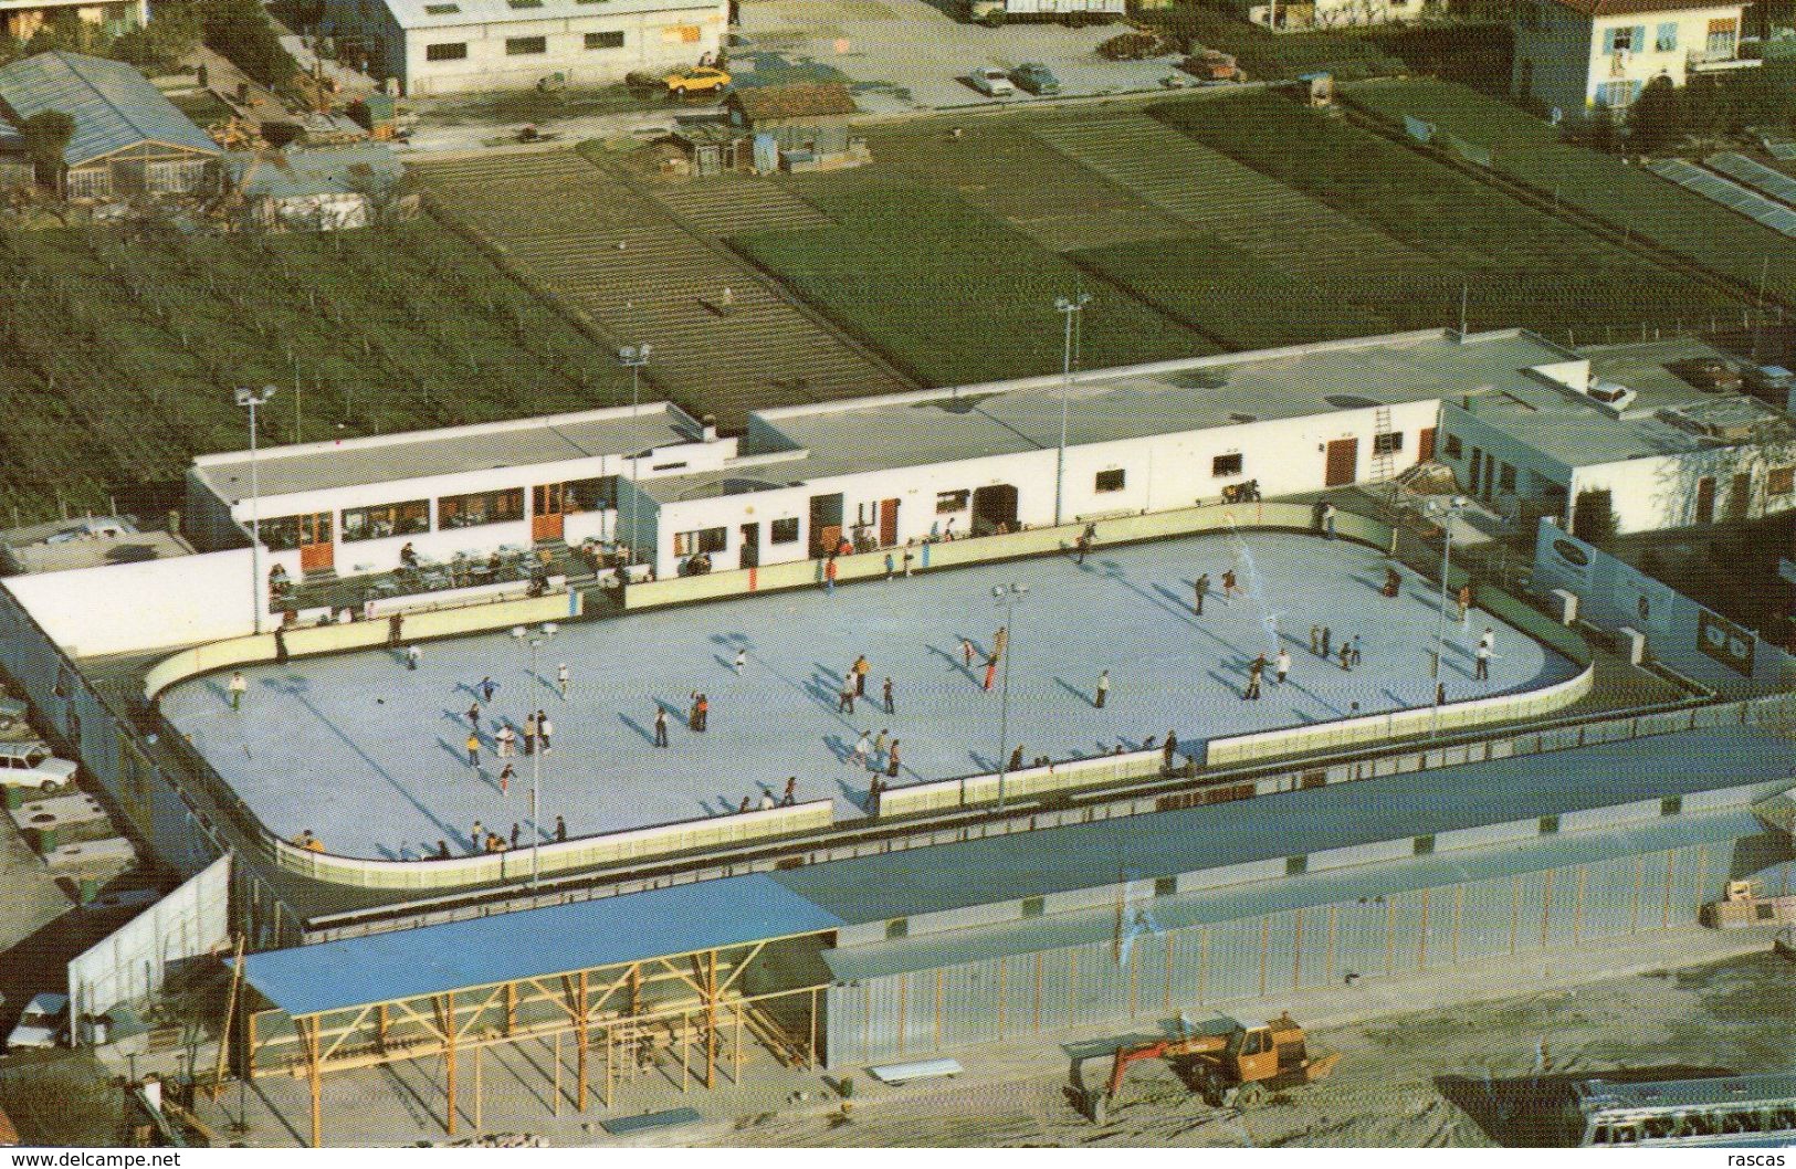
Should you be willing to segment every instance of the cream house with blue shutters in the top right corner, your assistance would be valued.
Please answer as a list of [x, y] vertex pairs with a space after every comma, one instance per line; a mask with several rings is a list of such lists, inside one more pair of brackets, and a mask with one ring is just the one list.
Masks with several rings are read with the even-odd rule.
[[1561, 115], [1620, 111], [1654, 77], [1751, 68], [1740, 56], [1742, 4], [1699, 0], [1523, 0], [1516, 9], [1514, 92]]

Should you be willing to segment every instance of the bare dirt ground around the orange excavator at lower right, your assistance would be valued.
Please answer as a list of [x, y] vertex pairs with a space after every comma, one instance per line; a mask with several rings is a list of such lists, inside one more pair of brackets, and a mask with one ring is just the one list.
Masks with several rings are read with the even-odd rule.
[[[1760, 952], [1681, 971], [1550, 989], [1324, 1029], [1333, 1077], [1239, 1113], [1203, 1104], [1164, 1063], [1135, 1065], [1105, 1128], [1067, 1099], [1067, 1065], [997, 1085], [857, 1104], [850, 1121], [779, 1119], [740, 1146], [1555, 1146], [1568, 1085], [1765, 1072], [1796, 1063], [1796, 966]], [[1106, 1061], [1087, 1065], [1097, 1079]]]

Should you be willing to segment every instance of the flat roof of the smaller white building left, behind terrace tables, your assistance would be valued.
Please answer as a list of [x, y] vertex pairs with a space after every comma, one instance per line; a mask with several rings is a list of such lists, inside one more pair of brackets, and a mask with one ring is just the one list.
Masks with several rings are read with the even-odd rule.
[[[257, 454], [262, 496], [363, 487], [401, 479], [528, 467], [600, 454], [634, 454], [697, 438], [697, 424], [679, 408], [645, 402], [515, 422], [481, 422], [436, 431], [269, 447]], [[250, 497], [250, 453], [194, 460], [194, 474], [226, 503]]]

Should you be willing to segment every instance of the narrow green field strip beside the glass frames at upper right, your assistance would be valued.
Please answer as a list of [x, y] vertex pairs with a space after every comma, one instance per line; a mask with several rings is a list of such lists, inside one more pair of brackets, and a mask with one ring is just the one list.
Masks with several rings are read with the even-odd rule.
[[1505, 101], [1444, 81], [1363, 83], [1347, 90], [1347, 101], [1392, 120], [1408, 113], [1433, 122], [1489, 149], [1503, 174], [1541, 194], [1749, 287], [1765, 273], [1771, 293], [1796, 296], [1796, 241], [1622, 158], [1566, 144]]

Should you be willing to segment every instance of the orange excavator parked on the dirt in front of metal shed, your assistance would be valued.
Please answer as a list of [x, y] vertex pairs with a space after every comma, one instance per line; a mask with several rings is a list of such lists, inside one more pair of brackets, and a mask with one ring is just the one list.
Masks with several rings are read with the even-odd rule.
[[1110, 1081], [1085, 1094], [1087, 1115], [1103, 1124], [1128, 1067], [1142, 1059], [1180, 1067], [1212, 1108], [1252, 1108], [1270, 1092], [1322, 1079], [1340, 1061], [1340, 1052], [1311, 1052], [1304, 1029], [1290, 1013], [1272, 1022], [1227, 1022], [1228, 1027], [1214, 1034], [1194, 1034], [1185, 1024], [1178, 1038], [1119, 1047]]

